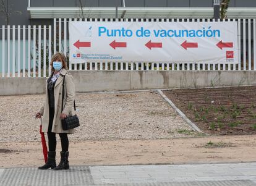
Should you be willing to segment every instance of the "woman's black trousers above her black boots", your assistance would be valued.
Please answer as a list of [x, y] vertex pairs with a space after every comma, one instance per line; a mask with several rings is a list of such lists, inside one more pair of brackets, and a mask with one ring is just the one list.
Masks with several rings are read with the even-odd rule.
[[[56, 151], [56, 133], [51, 132], [53, 127], [53, 117], [54, 117], [54, 108], [49, 108], [49, 126], [48, 126], [48, 148], [49, 151]], [[69, 138], [67, 138], [67, 133], [59, 133], [61, 138], [61, 149], [63, 152], [69, 151]]]

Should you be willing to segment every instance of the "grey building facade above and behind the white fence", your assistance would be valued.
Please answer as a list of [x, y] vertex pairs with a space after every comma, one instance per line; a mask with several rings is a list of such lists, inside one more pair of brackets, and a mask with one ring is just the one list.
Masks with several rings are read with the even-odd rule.
[[[213, 0], [4, 0], [3, 2], [0, 25], [50, 25], [53, 24], [54, 17], [115, 18], [116, 6], [118, 18], [213, 17]], [[228, 10], [228, 18], [231, 19], [254, 18], [256, 1], [231, 0]]]

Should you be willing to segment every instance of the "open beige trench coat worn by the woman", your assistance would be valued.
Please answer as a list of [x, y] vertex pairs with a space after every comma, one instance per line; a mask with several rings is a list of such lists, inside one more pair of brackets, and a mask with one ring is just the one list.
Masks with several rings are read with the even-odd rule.
[[[66, 69], [62, 69], [61, 75], [59, 75], [54, 86], [54, 117], [53, 117], [53, 127], [51, 132], [54, 133], [74, 133], [74, 129], [63, 130], [61, 126], [61, 101], [62, 101], [62, 82], [63, 76], [65, 76], [65, 88], [64, 88], [64, 101], [63, 101], [63, 111], [62, 113], [67, 114], [67, 116], [73, 115], [73, 106], [75, 99], [75, 84], [74, 78], [71, 74], [67, 72]], [[40, 108], [38, 112], [43, 115], [42, 119], [42, 132], [48, 132], [49, 125], [49, 103], [48, 103], [48, 87], [46, 80], [46, 98], [45, 104]]]

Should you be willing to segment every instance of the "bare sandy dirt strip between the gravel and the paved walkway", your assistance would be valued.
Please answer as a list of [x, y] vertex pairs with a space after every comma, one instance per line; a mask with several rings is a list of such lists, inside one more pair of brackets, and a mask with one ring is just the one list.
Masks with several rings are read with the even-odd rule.
[[[255, 161], [256, 136], [70, 142], [70, 165], [238, 163]], [[44, 164], [39, 142], [0, 143], [0, 168]], [[4, 151], [6, 149], [6, 151]], [[8, 149], [8, 150], [7, 150]], [[58, 143], [57, 149], [60, 150]], [[59, 162], [59, 153], [57, 154]]]

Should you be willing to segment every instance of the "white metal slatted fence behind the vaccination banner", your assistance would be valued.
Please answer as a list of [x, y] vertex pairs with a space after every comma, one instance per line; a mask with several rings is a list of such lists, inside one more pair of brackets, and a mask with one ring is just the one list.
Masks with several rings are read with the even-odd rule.
[[0, 77], [48, 77], [49, 61], [56, 51], [66, 54], [69, 70], [256, 70], [256, 20], [238, 22], [238, 64], [216, 62], [83, 62], [69, 63], [69, 21], [214, 22], [211, 19], [54, 19], [49, 26], [2, 26]]

